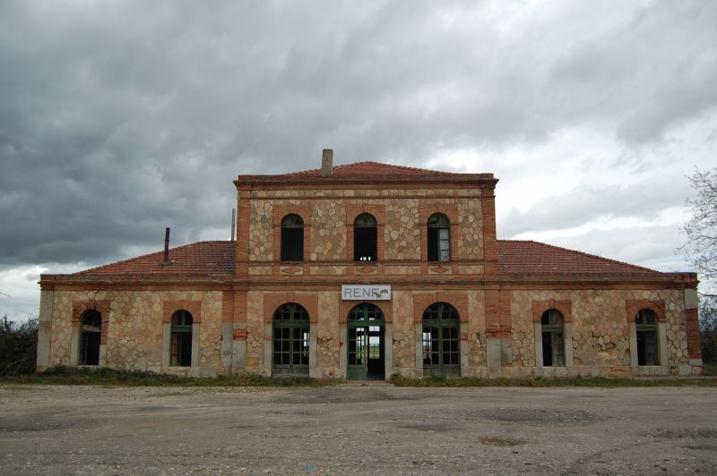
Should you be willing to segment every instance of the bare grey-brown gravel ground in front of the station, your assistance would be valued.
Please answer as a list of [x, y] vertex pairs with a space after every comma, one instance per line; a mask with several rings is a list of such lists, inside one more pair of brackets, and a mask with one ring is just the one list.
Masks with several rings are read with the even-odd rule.
[[717, 388], [0, 387], [0, 473], [717, 473]]

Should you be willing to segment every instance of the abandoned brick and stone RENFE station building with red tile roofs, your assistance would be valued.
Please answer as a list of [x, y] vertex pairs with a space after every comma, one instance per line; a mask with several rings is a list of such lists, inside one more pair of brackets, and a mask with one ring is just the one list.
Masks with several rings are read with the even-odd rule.
[[694, 273], [498, 240], [493, 174], [239, 175], [237, 233], [40, 278], [38, 367], [695, 375]]

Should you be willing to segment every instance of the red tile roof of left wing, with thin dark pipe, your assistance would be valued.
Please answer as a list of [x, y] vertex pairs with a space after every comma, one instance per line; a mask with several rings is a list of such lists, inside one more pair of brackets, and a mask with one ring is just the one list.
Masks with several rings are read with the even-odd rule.
[[195, 242], [75, 273], [83, 275], [226, 275], [234, 273], [237, 242]]

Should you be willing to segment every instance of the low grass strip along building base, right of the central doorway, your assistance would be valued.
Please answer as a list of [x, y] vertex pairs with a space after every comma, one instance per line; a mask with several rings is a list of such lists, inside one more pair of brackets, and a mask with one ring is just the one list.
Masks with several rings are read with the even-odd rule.
[[468, 378], [391, 376], [396, 387], [717, 387], [717, 378]]

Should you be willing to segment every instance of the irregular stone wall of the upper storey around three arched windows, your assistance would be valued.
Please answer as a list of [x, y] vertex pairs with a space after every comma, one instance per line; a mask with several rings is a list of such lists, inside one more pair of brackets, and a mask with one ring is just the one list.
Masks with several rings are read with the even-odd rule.
[[[327, 198], [327, 200], [300, 200], [326, 196], [335, 191], [255, 191], [250, 206], [249, 217], [249, 260], [272, 261], [279, 259], [274, 256], [274, 239], [279, 234], [273, 233], [273, 227], [279, 226], [277, 220], [272, 220], [274, 207], [283, 209], [308, 208], [305, 213], [304, 224], [308, 227], [308, 238], [311, 249], [306, 260], [326, 262], [336, 260], [353, 260], [348, 256], [350, 246], [347, 228], [348, 208], [381, 208], [385, 210], [384, 232], [379, 240], [384, 243], [384, 256], [379, 260], [421, 259], [421, 224], [419, 197], [436, 197], [430, 203], [437, 207], [447, 206], [456, 210], [454, 216], [449, 216], [452, 223], [457, 224], [454, 231], [457, 237], [454, 240], [456, 250], [453, 251], [456, 259], [482, 259], [483, 258], [483, 217], [479, 191], [475, 190], [440, 190], [440, 191], [344, 191], [340, 197]], [[346, 192], [350, 192], [346, 195]], [[290, 197], [290, 199], [289, 199]], [[299, 200], [297, 200], [297, 197]], [[360, 198], [358, 198], [360, 197]], [[371, 197], [367, 200], [366, 197]], [[281, 217], [279, 217], [281, 219]], [[352, 218], [349, 217], [348, 221]], [[275, 223], [274, 223], [275, 222]], [[381, 225], [381, 224], [379, 224]], [[425, 227], [423, 227], [425, 230]], [[250, 271], [252, 272], [252, 271]], [[254, 270], [252, 274], [261, 274]]]

